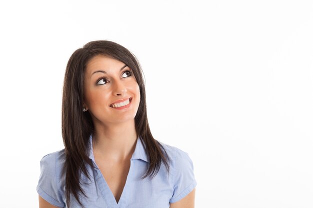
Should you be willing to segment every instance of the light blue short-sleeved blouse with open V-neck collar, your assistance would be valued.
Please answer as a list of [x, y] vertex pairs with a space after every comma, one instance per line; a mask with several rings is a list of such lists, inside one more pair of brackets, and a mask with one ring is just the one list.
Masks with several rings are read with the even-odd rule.
[[[148, 159], [138, 137], [118, 204], [100, 170], [89, 165], [87, 170], [91, 176], [90, 180], [82, 174], [82, 180], [86, 182], [82, 184], [82, 188], [87, 198], [81, 197], [81, 203], [85, 208], [169, 208], [169, 203], [187, 196], [196, 186], [192, 161], [188, 154], [180, 149], [161, 144], [170, 158], [169, 174], [162, 164], [152, 180], [149, 177], [140, 179], [147, 169]], [[89, 158], [96, 166], [92, 145], [90, 147]], [[41, 173], [36, 188], [45, 201], [60, 208], [67, 208], [64, 177], [61, 176], [64, 160], [64, 149], [44, 156], [40, 161]], [[73, 196], [70, 199], [71, 208], [80, 208]]]

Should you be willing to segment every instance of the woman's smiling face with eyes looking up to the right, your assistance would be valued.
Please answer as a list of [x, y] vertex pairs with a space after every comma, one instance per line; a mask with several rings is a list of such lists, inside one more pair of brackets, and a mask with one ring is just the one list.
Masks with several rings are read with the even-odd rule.
[[140, 91], [131, 69], [103, 55], [92, 57], [84, 73], [84, 107], [101, 124], [134, 119]]

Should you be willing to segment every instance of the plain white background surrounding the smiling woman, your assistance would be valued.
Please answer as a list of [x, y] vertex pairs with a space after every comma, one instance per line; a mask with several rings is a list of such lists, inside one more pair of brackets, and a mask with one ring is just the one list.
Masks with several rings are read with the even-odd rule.
[[139, 59], [152, 134], [192, 159], [196, 208], [313, 207], [313, 1], [1, 1], [0, 30], [1, 208], [38, 207], [67, 60], [97, 39]]

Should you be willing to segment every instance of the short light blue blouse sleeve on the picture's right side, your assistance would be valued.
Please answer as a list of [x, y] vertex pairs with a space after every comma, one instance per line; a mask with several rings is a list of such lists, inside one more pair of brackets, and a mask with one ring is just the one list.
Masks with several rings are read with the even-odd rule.
[[173, 165], [173, 196], [169, 203], [175, 203], [187, 196], [196, 186], [193, 164], [188, 154], [177, 149]]

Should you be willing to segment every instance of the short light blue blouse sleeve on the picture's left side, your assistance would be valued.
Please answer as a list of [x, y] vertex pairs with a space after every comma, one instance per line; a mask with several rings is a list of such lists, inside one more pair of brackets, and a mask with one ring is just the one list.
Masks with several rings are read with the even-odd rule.
[[48, 154], [40, 160], [40, 177], [36, 190], [40, 197], [51, 205], [64, 208], [56, 161], [57, 152]]

